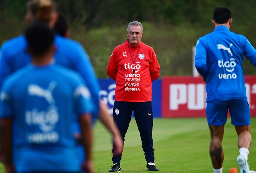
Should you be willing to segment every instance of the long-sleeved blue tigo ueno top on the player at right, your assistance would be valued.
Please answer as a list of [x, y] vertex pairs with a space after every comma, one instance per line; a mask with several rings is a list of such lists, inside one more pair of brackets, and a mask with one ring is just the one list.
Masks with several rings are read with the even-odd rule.
[[256, 50], [243, 35], [218, 26], [196, 43], [195, 67], [206, 77], [206, 101], [246, 98], [244, 56], [256, 66]]

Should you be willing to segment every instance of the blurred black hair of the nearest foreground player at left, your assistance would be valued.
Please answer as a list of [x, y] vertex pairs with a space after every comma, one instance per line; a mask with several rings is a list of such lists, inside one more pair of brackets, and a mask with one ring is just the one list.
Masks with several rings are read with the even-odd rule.
[[53, 45], [54, 33], [42, 22], [31, 24], [25, 30], [28, 47], [33, 55], [43, 55]]

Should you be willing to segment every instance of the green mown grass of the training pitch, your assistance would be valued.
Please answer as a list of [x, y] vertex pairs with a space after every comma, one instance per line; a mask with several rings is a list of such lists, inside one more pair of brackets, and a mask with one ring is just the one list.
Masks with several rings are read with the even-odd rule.
[[[252, 146], [249, 154], [251, 170], [256, 169], [256, 118], [251, 119]], [[100, 122], [94, 131], [94, 167], [96, 173], [108, 172], [112, 165], [110, 134]], [[132, 119], [126, 134], [121, 160], [122, 172], [146, 172], [146, 161], [135, 120]], [[212, 173], [209, 156], [210, 134], [206, 118], [154, 119], [153, 140], [155, 164], [163, 173]], [[238, 168], [237, 135], [228, 119], [223, 139], [223, 173], [231, 167]], [[0, 172], [4, 167], [0, 165]]]

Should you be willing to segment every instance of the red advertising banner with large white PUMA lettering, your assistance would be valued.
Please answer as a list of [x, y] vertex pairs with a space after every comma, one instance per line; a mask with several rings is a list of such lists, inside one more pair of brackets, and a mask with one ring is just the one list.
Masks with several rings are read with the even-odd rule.
[[[251, 116], [256, 116], [256, 76], [245, 76]], [[206, 117], [206, 91], [202, 77], [162, 78], [162, 117]]]

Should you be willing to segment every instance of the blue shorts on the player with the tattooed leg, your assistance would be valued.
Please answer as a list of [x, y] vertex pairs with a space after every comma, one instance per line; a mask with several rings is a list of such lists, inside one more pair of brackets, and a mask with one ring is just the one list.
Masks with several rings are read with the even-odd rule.
[[235, 126], [251, 124], [250, 107], [247, 98], [207, 101], [206, 116], [208, 124], [214, 126], [224, 125], [227, 122], [228, 110], [231, 116], [231, 124]]

